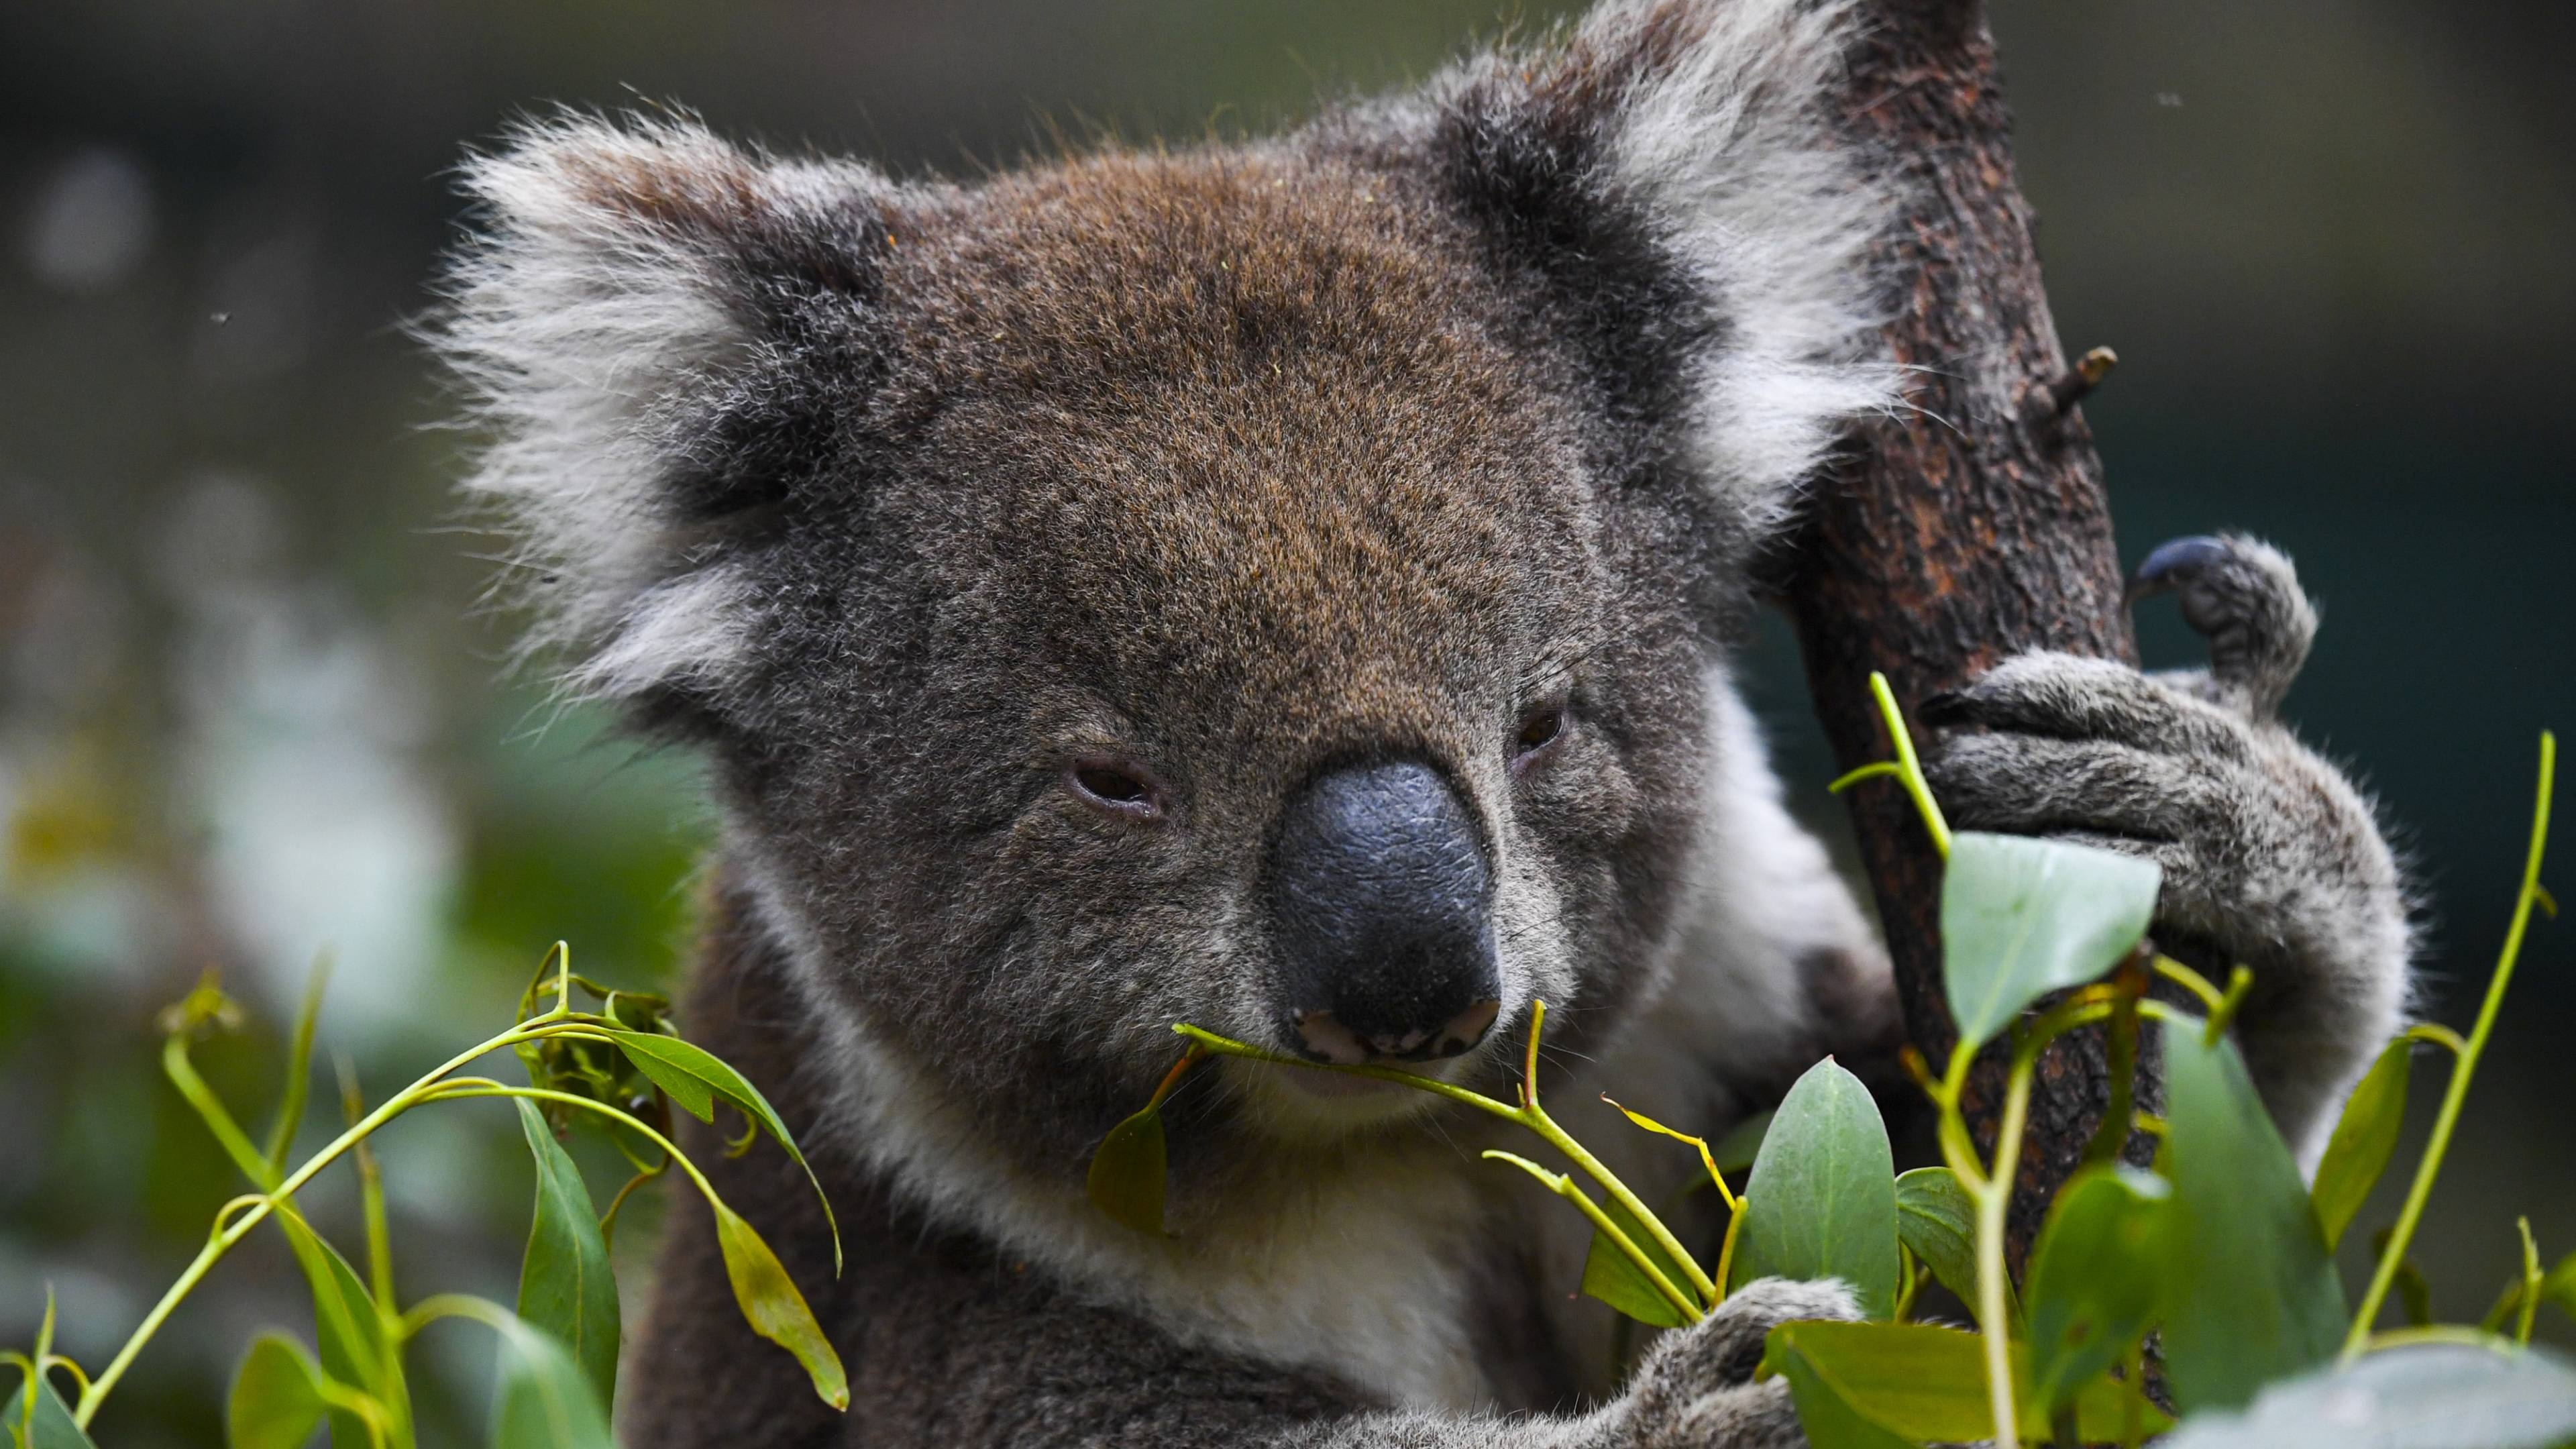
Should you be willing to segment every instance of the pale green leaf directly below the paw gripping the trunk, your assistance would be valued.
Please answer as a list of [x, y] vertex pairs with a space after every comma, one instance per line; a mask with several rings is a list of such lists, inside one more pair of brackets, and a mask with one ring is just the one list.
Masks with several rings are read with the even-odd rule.
[[1984, 1044], [2032, 1000], [2120, 964], [2156, 913], [2154, 861], [1960, 830], [1940, 882], [1942, 990]]

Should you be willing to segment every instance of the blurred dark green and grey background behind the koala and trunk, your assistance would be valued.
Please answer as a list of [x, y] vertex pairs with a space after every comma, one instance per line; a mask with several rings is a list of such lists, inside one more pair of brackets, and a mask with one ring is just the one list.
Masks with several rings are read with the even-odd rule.
[[[623, 985], [670, 980], [685, 944], [690, 766], [505, 678], [492, 541], [456, 523], [461, 441], [399, 330], [456, 235], [461, 147], [536, 106], [649, 98], [971, 173], [1048, 124], [1296, 119], [1507, 21], [1492, 0], [0, 8], [0, 1338], [31, 1336], [52, 1284], [95, 1366], [240, 1191], [155, 1062], [155, 1011], [201, 967], [255, 1008], [201, 1052], [255, 1114], [325, 946], [325, 1039], [381, 1096], [505, 1021], [556, 936]], [[2329, 627], [2293, 712], [2385, 799], [2429, 902], [2427, 1011], [2465, 1024], [2535, 732], [2576, 727], [2576, 10], [1996, 0], [1996, 31], [2066, 343], [2123, 356], [2087, 405], [2123, 552], [2239, 526], [2300, 557]], [[2146, 650], [2192, 657], [2169, 611]], [[1839, 825], [1783, 629], [1754, 688], [1801, 804]], [[2419, 1261], [2445, 1315], [2514, 1269], [2517, 1212], [2545, 1253], [2576, 1248], [2571, 959], [2566, 926], [2535, 931], [2434, 1199]], [[510, 1297], [515, 1137], [474, 1106], [386, 1134], [404, 1297]], [[350, 1222], [340, 1176], [325, 1225]], [[304, 1315], [281, 1253], [224, 1266], [103, 1441], [216, 1441], [247, 1333]], [[433, 1423], [464, 1434], [482, 1348], [440, 1333]]]

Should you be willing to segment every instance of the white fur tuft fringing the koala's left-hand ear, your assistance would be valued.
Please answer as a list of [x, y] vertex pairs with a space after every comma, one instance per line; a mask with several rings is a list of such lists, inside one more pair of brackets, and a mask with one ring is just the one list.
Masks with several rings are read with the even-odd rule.
[[750, 601], [724, 575], [688, 575], [667, 474], [677, 415], [750, 335], [716, 248], [647, 201], [721, 209], [760, 175], [690, 124], [574, 116], [464, 168], [489, 227], [453, 263], [433, 343], [492, 438], [466, 490], [518, 539], [515, 593], [538, 606], [528, 645], [564, 650], [574, 688], [634, 696], [724, 673], [742, 650]]

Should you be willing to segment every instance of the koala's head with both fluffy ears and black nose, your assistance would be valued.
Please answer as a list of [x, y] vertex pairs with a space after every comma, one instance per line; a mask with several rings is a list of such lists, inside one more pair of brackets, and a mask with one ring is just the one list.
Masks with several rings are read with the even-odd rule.
[[[958, 186], [528, 126], [440, 343], [533, 645], [714, 761], [817, 1011], [1066, 1171], [1175, 1021], [1461, 1078], [1540, 998], [1605, 1034], [1749, 559], [1886, 397], [1839, 31], [1615, 5]], [[1231, 1080], [1273, 1142], [1419, 1101]]]

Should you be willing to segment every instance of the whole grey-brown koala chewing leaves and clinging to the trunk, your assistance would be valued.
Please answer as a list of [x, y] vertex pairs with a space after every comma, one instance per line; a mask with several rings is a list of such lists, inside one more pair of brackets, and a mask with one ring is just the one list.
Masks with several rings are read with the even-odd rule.
[[[1844, 0], [1610, 0], [1244, 144], [894, 180], [688, 119], [474, 157], [438, 345], [489, 438], [528, 647], [696, 750], [690, 1034], [801, 1134], [688, 1137], [775, 1243], [848, 1415], [677, 1207], [626, 1436], [732, 1444], [1788, 1446], [1752, 1284], [1620, 1374], [1587, 1230], [1425, 1093], [1218, 1060], [1170, 1232], [1084, 1163], [1170, 1026], [1510, 1091], [1651, 1201], [1888, 967], [1734, 683], [1757, 554], [1875, 351], [1886, 157], [1829, 116]], [[2311, 1142], [2406, 998], [2370, 804], [2275, 719], [2313, 608], [2164, 549], [2208, 670], [2014, 657], [1935, 701], [1960, 825], [2138, 851], [2159, 931], [2262, 972]], [[1597, 1111], [1597, 1116], [1592, 1116]], [[1525, 1147], [1525, 1142], [1512, 1142]]]

